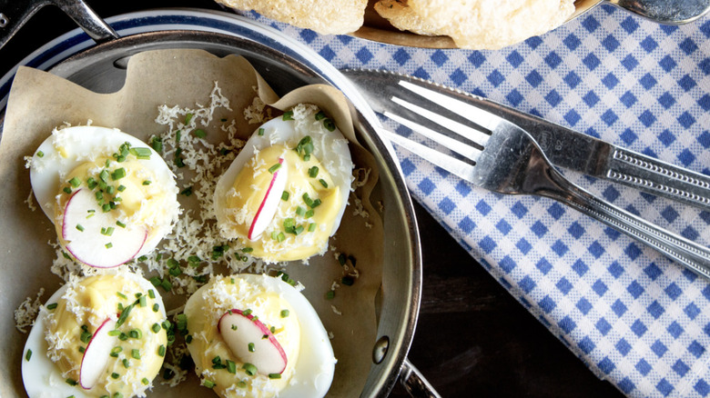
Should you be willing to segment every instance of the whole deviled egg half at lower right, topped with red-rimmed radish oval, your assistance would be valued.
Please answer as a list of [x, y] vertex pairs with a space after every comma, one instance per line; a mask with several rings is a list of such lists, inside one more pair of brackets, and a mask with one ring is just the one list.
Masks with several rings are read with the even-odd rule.
[[309, 301], [279, 277], [217, 276], [185, 305], [188, 350], [221, 397], [322, 397], [336, 359]]

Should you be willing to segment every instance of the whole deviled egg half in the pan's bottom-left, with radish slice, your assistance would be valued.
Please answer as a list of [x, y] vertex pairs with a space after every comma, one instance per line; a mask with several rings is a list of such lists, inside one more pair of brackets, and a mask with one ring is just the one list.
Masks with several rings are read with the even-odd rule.
[[30, 398], [145, 396], [167, 348], [165, 307], [145, 278], [73, 278], [40, 308], [22, 378]]

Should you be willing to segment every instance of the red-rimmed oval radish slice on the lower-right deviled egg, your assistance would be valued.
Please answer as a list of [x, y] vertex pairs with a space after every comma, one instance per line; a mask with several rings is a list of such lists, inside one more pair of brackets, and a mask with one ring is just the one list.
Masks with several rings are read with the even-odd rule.
[[230, 310], [218, 323], [219, 333], [232, 353], [243, 363], [251, 363], [261, 374], [283, 373], [286, 369], [286, 353], [269, 328], [245, 315], [240, 310]]

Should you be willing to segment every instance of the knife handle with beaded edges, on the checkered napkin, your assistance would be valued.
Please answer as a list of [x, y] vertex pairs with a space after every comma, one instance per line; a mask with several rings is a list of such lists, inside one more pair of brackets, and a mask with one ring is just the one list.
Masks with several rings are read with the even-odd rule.
[[710, 211], [710, 177], [615, 147], [606, 178]]

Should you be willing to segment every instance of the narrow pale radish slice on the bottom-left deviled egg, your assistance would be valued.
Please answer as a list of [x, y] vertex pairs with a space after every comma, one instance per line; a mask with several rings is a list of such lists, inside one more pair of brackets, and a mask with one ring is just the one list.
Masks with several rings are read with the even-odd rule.
[[111, 318], [106, 319], [96, 329], [96, 333], [91, 337], [84, 356], [81, 359], [81, 368], [79, 369], [79, 383], [85, 390], [92, 389], [98, 382], [101, 374], [106, 370], [108, 359], [111, 350], [116, 345], [116, 336], [111, 336], [108, 333], [116, 327], [116, 320]]

